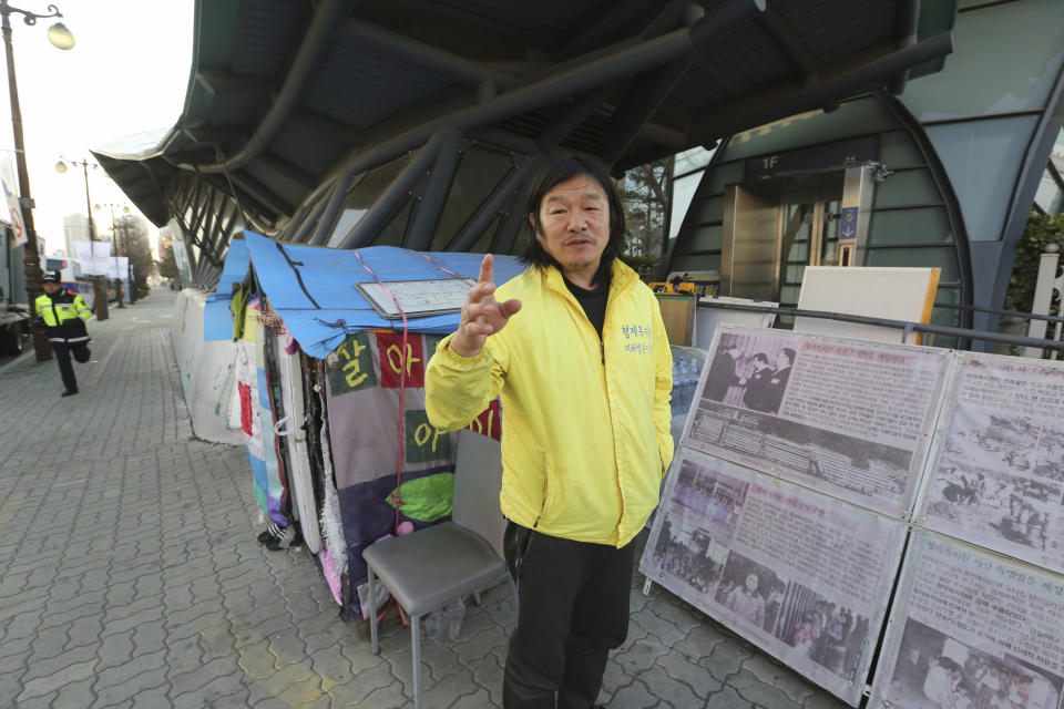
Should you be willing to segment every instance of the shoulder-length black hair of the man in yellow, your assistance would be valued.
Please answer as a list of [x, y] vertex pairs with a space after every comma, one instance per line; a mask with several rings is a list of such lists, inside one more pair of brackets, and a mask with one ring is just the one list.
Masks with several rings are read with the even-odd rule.
[[546, 197], [546, 193], [563, 182], [580, 175], [587, 175], [597, 182], [598, 186], [606, 193], [606, 199], [610, 204], [610, 239], [602, 251], [598, 270], [595, 271], [592, 281], [596, 286], [608, 287], [613, 259], [617, 257], [621, 250], [621, 242], [624, 238], [624, 206], [621, 204], [621, 197], [613, 186], [613, 181], [610, 179], [610, 173], [594, 157], [556, 155], [536, 171], [529, 189], [528, 213], [532, 216], [532, 222], [529, 224], [529, 245], [524, 254], [520, 256], [520, 260], [522, 264], [541, 269], [554, 266], [559, 270], [563, 270], [561, 264], [543, 248], [543, 245], [536, 238], [536, 235], [543, 230], [543, 225], [540, 223], [540, 205]]

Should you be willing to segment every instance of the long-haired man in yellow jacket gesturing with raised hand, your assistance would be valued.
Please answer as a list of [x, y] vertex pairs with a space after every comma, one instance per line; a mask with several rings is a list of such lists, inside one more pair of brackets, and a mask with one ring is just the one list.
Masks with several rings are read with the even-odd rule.
[[672, 356], [657, 301], [616, 255], [624, 212], [596, 161], [533, 178], [530, 268], [495, 290], [484, 257], [426, 372], [437, 428], [502, 402], [507, 565], [520, 610], [507, 709], [589, 709], [628, 628], [633, 538], [673, 454]]

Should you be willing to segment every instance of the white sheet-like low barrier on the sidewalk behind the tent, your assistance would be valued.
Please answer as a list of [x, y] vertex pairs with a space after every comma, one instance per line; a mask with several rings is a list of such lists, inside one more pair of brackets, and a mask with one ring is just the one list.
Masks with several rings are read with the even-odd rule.
[[239, 425], [229, 424], [229, 401], [233, 395], [236, 345], [229, 341], [206, 342], [203, 339], [203, 308], [207, 294], [184, 289], [174, 307], [174, 356], [181, 371], [185, 404], [192, 418], [192, 430], [205, 441], [244, 445]]

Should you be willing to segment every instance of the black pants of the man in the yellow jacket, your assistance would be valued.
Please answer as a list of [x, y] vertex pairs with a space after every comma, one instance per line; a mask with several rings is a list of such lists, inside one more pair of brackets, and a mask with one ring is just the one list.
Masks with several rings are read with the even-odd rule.
[[505, 709], [590, 709], [606, 657], [628, 634], [634, 543], [623, 548], [507, 527], [518, 627], [502, 681]]

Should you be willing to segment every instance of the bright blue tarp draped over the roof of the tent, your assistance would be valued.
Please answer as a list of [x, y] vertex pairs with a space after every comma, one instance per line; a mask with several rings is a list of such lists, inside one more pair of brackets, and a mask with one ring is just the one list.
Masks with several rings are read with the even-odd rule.
[[[483, 259], [483, 254], [422, 253], [393, 246], [340, 250], [282, 244], [247, 230], [244, 235], [270, 307], [284, 319], [299, 347], [318, 359], [325, 359], [351, 332], [402, 327], [401, 320], [380, 317], [355, 284], [454, 278], [451, 273], [475, 281]], [[500, 285], [524, 270], [512, 256], [495, 256], [494, 263], [494, 278]], [[457, 312], [411, 317], [408, 328], [411, 332], [450, 333], [458, 321]]]

